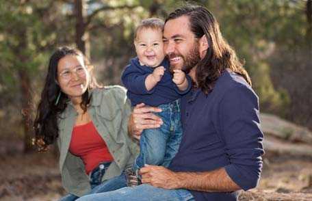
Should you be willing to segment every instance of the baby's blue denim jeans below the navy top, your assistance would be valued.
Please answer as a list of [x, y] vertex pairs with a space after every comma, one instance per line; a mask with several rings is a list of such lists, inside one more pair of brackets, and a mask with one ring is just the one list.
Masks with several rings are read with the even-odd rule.
[[140, 154], [135, 159], [133, 171], [137, 172], [144, 164], [168, 167], [176, 155], [182, 138], [180, 99], [159, 105], [162, 109], [157, 116], [164, 124], [159, 129], [145, 129], [140, 139]]

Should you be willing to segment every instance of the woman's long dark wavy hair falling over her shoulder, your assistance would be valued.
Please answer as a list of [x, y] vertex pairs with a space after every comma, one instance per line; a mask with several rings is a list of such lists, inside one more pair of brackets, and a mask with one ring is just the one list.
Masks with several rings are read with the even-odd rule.
[[[96, 79], [92, 75], [93, 66], [90, 65], [88, 58], [84, 56], [81, 51], [64, 46], [57, 49], [53, 55], [51, 55], [47, 77], [41, 92], [41, 99], [34, 121], [35, 138], [33, 139], [33, 143], [37, 146], [39, 151], [47, 150], [47, 146], [55, 142], [59, 134], [57, 118], [60, 113], [66, 109], [69, 101], [67, 95], [61, 91], [60, 86], [57, 84], [57, 65], [60, 59], [66, 55], [78, 55], [83, 57], [83, 63], [90, 72], [88, 90], [82, 95], [82, 101], [80, 103], [84, 112], [87, 111], [87, 106], [91, 99], [89, 91], [99, 87], [96, 83]], [[57, 98], [58, 96], [60, 97]]]

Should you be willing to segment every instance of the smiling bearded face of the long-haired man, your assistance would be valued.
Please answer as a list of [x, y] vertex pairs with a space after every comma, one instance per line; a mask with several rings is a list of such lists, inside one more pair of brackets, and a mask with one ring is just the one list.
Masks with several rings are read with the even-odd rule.
[[200, 54], [198, 39], [190, 29], [187, 16], [167, 21], [164, 27], [164, 51], [170, 61], [170, 68], [186, 73], [198, 64]]

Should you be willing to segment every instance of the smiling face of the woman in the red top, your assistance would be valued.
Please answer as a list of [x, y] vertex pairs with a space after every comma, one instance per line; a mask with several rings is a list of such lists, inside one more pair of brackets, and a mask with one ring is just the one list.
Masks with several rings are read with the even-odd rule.
[[70, 100], [81, 100], [90, 81], [90, 74], [80, 55], [66, 55], [57, 65], [57, 82]]

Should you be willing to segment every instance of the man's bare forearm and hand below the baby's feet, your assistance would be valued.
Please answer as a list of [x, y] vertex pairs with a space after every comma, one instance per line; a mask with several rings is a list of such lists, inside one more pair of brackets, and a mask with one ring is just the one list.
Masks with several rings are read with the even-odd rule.
[[224, 168], [209, 172], [172, 172], [166, 167], [146, 165], [140, 170], [142, 183], [164, 189], [224, 192], [241, 189]]

